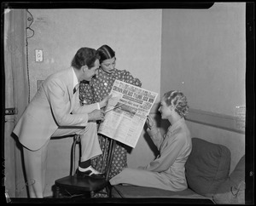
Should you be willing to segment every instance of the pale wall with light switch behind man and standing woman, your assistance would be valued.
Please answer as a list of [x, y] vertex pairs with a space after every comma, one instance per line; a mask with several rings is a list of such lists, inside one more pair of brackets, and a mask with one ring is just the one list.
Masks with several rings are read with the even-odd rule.
[[[144, 89], [160, 93], [161, 9], [29, 9], [34, 36], [29, 38], [32, 95], [35, 81], [70, 66], [81, 47], [108, 44], [116, 67], [139, 77]], [[28, 15], [29, 16], [29, 15]], [[31, 33], [31, 31], [30, 31]], [[35, 62], [34, 49], [44, 61]]]

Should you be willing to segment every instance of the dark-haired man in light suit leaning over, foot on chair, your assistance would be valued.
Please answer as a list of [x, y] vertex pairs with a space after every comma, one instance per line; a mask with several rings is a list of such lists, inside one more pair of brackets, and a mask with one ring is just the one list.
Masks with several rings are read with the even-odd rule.
[[96, 49], [79, 49], [71, 67], [44, 80], [15, 125], [14, 133], [23, 145], [30, 197], [43, 197], [47, 148], [53, 136], [80, 134], [82, 156], [78, 175], [103, 178], [91, 167], [90, 159], [102, 154], [96, 120], [104, 119], [101, 108], [107, 105], [109, 96], [101, 102], [81, 106], [79, 91], [76, 91], [80, 81], [90, 81], [95, 76], [99, 59]]

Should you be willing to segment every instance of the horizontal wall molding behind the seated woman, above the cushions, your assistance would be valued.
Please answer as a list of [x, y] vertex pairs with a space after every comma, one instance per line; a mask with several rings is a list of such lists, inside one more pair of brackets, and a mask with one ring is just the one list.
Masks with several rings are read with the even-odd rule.
[[[159, 104], [155, 103], [150, 114], [158, 113]], [[245, 134], [244, 121], [237, 120], [236, 117], [230, 115], [219, 114], [215, 112], [207, 112], [189, 108], [189, 114], [186, 120], [193, 123], [200, 123], [218, 129], [225, 129], [232, 132]]]

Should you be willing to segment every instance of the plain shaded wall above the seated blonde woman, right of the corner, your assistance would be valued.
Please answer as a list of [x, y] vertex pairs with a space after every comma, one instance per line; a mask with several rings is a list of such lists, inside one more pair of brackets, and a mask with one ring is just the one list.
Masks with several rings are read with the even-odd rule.
[[190, 108], [235, 116], [245, 106], [245, 9], [164, 9], [161, 93], [180, 89]]

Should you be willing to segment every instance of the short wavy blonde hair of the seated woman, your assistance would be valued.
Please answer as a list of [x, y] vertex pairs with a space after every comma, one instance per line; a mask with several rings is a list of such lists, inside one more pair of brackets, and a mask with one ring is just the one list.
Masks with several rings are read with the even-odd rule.
[[185, 117], [189, 113], [189, 106], [186, 96], [177, 90], [166, 92], [163, 96], [167, 106], [174, 106], [175, 112], [181, 117]]

